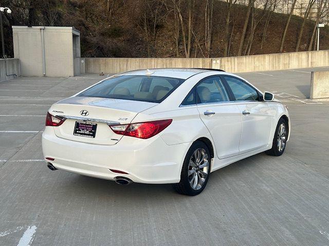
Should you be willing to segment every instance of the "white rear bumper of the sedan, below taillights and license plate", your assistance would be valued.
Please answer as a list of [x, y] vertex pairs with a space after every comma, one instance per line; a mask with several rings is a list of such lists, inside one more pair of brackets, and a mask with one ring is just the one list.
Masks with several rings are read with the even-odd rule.
[[169, 146], [160, 136], [149, 139], [124, 136], [116, 145], [105, 146], [59, 138], [52, 127], [46, 127], [42, 134], [44, 157], [54, 158], [45, 161], [54, 167], [109, 180], [123, 176], [139, 183], [179, 182], [188, 148], [188, 143]]

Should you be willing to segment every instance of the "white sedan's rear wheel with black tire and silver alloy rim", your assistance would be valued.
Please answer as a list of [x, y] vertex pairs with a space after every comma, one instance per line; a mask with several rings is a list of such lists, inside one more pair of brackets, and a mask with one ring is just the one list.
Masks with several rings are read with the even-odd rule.
[[[203, 151], [204, 150], [204, 151]], [[194, 162], [195, 160], [195, 155], [194, 152], [198, 153], [197, 151], [200, 151], [201, 154], [204, 154], [204, 158], [199, 158], [200, 162], [199, 165], [195, 168], [191, 168], [192, 166], [190, 165], [190, 160]], [[206, 156], [207, 155], [207, 156]], [[203, 167], [203, 168], [198, 168], [202, 167], [204, 165], [207, 165], [205, 159], [208, 161], [208, 166]], [[197, 160], [195, 160], [197, 162]], [[192, 146], [190, 147], [189, 151], [186, 154], [186, 157], [184, 159], [184, 163], [181, 169], [180, 173], [180, 182], [175, 183], [173, 185], [173, 188], [180, 194], [183, 195], [188, 195], [188, 196], [195, 196], [200, 194], [206, 187], [208, 179], [209, 179], [209, 174], [210, 174], [210, 164], [211, 164], [211, 155], [209, 152], [209, 149], [206, 144], [202, 141], [195, 141]], [[194, 172], [190, 174], [189, 172]], [[207, 172], [207, 175], [205, 173]], [[196, 177], [192, 177], [196, 175]], [[195, 180], [196, 179], [196, 180]], [[197, 183], [197, 186], [195, 189], [193, 189], [190, 180], [194, 180], [195, 183]], [[203, 182], [203, 183], [202, 183]], [[193, 182], [194, 183], [194, 182]], [[200, 184], [202, 183], [202, 185]]]

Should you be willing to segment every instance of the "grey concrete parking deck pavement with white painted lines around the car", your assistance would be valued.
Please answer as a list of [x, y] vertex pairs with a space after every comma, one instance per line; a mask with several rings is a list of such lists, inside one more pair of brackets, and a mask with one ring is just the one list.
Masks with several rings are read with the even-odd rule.
[[291, 139], [280, 157], [212, 173], [195, 197], [46, 167], [47, 109], [103, 77], [0, 82], [0, 245], [328, 245], [329, 103], [306, 99], [305, 69], [241, 76], [289, 107]]

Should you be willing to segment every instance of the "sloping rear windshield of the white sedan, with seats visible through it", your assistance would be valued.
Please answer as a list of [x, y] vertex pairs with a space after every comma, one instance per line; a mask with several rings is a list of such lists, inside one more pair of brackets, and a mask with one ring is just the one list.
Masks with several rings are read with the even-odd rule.
[[90, 87], [78, 96], [117, 98], [136, 101], [150, 101], [161, 103], [184, 79], [144, 76], [122, 75], [108, 78], [101, 83]]

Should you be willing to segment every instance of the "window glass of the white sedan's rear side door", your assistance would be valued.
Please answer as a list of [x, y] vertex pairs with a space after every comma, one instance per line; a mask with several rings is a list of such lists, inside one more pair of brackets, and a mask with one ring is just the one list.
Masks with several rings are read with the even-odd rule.
[[209, 77], [196, 86], [199, 104], [229, 101], [229, 97], [220, 77]]

